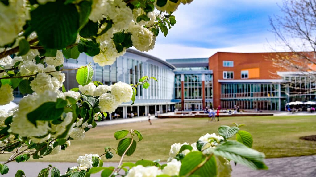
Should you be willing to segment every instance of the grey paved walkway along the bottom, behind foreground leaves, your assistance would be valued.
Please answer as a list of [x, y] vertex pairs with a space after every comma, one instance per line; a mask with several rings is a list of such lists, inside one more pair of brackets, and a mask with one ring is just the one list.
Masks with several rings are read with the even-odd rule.
[[[232, 168], [232, 177], [315, 177], [316, 176], [316, 156], [302, 157], [285, 157], [285, 158], [270, 158], [265, 160], [269, 170], [252, 170], [240, 164], [234, 165]], [[25, 172], [27, 177], [36, 177], [38, 172], [52, 166], [58, 168], [61, 174], [64, 174], [68, 167], [77, 166], [77, 163], [59, 163], [59, 162], [23, 162], [8, 163], [9, 173], [4, 176], [14, 176], [18, 169]], [[117, 167], [118, 163], [104, 163], [104, 167]], [[100, 177], [100, 174], [91, 175], [91, 177]]]

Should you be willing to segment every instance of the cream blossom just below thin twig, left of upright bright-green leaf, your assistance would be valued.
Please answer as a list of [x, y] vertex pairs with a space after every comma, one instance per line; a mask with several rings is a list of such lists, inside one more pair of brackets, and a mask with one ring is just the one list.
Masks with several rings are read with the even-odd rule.
[[47, 90], [57, 92], [60, 82], [56, 77], [51, 77], [45, 73], [38, 73], [34, 80], [31, 81], [30, 86], [34, 92], [42, 94]]

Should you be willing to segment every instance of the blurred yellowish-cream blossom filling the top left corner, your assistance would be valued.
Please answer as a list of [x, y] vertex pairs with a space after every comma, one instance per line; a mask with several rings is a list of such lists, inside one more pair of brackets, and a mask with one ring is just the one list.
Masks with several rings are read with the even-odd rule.
[[9, 5], [0, 3], [0, 46], [12, 43], [29, 19], [29, 5], [26, 0], [9, 0]]

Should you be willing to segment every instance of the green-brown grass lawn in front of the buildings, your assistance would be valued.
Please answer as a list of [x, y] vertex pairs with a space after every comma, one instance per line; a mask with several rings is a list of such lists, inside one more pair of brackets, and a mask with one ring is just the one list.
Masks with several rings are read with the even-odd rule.
[[[137, 129], [144, 139], [137, 143], [135, 153], [125, 161], [136, 161], [142, 157], [148, 160], [166, 161], [170, 145], [178, 142], [195, 142], [206, 133], [217, 133], [220, 125], [232, 126], [233, 122], [246, 123], [242, 130], [253, 136], [253, 148], [264, 152], [267, 158], [306, 156], [316, 154], [316, 142], [300, 140], [300, 136], [316, 134], [315, 116], [264, 116], [264, 117], [223, 117], [220, 122], [207, 122], [207, 118], [182, 118], [153, 120], [97, 127], [87, 132], [85, 140], [71, 141], [71, 146], [57, 155], [49, 155], [40, 161], [76, 162], [79, 155], [102, 154], [105, 146], [117, 147], [119, 140], [113, 134], [117, 130]], [[235, 138], [235, 137], [233, 137]], [[5, 160], [0, 157], [0, 160]], [[105, 159], [104, 159], [105, 160]], [[38, 160], [37, 160], [38, 161]], [[106, 162], [118, 162], [114, 155]]]

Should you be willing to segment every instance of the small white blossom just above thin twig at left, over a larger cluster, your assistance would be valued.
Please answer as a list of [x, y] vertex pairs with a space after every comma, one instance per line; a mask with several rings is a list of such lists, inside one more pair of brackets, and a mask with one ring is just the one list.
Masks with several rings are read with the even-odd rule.
[[36, 64], [33, 61], [23, 61], [19, 64], [18, 68], [22, 76], [36, 74], [37, 72], [44, 71], [43, 64]]

